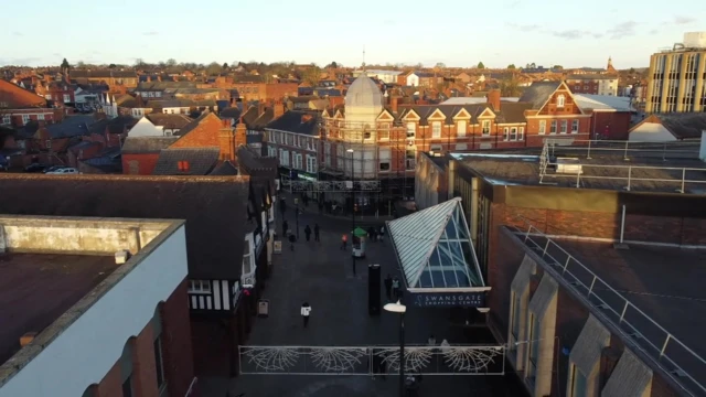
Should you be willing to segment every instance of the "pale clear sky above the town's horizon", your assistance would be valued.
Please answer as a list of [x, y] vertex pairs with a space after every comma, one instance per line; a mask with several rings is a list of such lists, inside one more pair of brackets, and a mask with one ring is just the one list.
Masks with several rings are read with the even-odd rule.
[[706, 31], [703, 0], [34, 0], [2, 11], [13, 17], [3, 19], [0, 65], [31, 66], [65, 57], [606, 67], [612, 56], [630, 68], [648, 66], [684, 32]]

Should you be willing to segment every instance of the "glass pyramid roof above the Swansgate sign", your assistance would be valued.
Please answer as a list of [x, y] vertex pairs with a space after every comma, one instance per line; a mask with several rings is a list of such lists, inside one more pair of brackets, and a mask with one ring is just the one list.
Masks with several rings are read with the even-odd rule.
[[484, 287], [461, 198], [387, 223], [408, 288]]

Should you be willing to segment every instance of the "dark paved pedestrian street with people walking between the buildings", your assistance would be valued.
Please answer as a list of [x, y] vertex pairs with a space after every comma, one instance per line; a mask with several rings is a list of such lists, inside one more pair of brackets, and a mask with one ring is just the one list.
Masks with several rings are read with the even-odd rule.
[[[291, 211], [289, 211], [291, 212]], [[293, 214], [287, 214], [289, 227], [295, 229]], [[321, 243], [304, 239], [303, 227], [321, 226]], [[270, 301], [269, 318], [256, 319], [249, 345], [375, 345], [398, 344], [398, 316], [382, 312], [367, 313], [367, 265], [379, 264], [383, 278], [399, 276], [389, 243], [367, 245], [367, 257], [356, 260], [353, 275], [350, 250], [340, 249], [340, 238], [350, 232], [346, 221], [321, 217], [313, 213], [299, 216], [301, 240], [296, 250], [282, 244], [284, 251], [274, 258], [274, 272], [265, 299]], [[281, 226], [278, 225], [278, 232]], [[384, 299], [384, 291], [383, 291]], [[302, 302], [312, 308], [309, 328], [304, 329], [299, 314]], [[424, 344], [429, 334], [437, 341], [463, 342], [461, 330], [450, 328], [448, 311], [435, 309], [410, 310], [405, 316], [406, 343]], [[501, 376], [426, 376], [420, 396], [502, 396], [491, 384], [502, 383]], [[353, 397], [393, 396], [397, 377], [387, 380], [367, 376], [289, 376], [240, 375], [235, 379], [203, 379], [205, 397], [224, 397], [246, 393], [247, 397]], [[494, 391], [493, 391], [494, 390]]]

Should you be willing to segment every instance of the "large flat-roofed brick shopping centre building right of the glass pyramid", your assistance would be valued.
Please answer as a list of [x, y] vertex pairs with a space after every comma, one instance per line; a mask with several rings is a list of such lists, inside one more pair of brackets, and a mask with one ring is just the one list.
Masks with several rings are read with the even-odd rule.
[[[468, 153], [435, 160], [447, 185], [428, 170], [419, 179], [429, 183], [417, 184], [428, 190], [425, 197], [462, 197], [492, 288], [488, 326], [509, 346], [513, 371], [534, 396], [577, 387], [621, 395], [621, 384], [642, 396], [698, 393], [699, 357], [677, 352], [702, 350], [700, 334], [691, 331], [700, 325], [687, 320], [702, 309], [654, 294], [700, 293], [700, 282], [683, 273], [697, 277], [704, 260], [696, 249], [706, 247], [703, 171], [683, 182], [682, 171], [668, 169], [706, 167], [667, 152], [663, 169], [633, 180], [631, 165], [654, 167], [649, 152], [631, 151], [625, 165], [623, 153], [553, 150], [577, 159], [578, 168], [557, 162], [543, 171], [539, 150]], [[661, 354], [653, 345], [670, 347]]]

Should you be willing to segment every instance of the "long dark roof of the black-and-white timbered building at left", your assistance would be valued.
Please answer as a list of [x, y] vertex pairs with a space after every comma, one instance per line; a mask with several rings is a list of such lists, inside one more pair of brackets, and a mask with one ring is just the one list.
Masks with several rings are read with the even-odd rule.
[[0, 214], [185, 219], [189, 277], [240, 277], [247, 176], [0, 174]]

